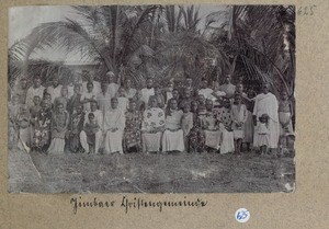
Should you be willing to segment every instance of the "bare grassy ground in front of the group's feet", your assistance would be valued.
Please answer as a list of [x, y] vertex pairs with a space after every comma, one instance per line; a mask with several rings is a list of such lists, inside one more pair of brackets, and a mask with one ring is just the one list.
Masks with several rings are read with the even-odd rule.
[[[9, 152], [9, 191], [27, 193], [293, 192], [293, 157]], [[29, 163], [33, 164], [26, 165]], [[23, 171], [21, 171], [23, 170]]]

